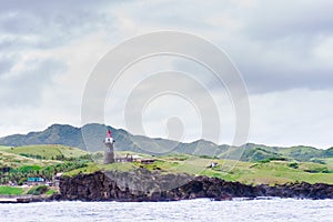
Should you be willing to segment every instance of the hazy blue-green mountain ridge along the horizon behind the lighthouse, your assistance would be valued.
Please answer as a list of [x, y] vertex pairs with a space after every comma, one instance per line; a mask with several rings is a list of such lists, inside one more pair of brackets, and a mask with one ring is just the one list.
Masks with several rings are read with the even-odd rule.
[[148, 154], [189, 153], [195, 155], [218, 157], [220, 159], [239, 159], [242, 161], [294, 160], [321, 162], [322, 159], [333, 158], [333, 148], [321, 150], [313, 147], [269, 147], [246, 143], [241, 147], [215, 144], [206, 140], [178, 142], [162, 138], [134, 135], [123, 129], [115, 129], [100, 123], [89, 123], [81, 128], [70, 124], [54, 123], [43, 131], [27, 134], [12, 134], [0, 138], [1, 145], [21, 147], [31, 144], [62, 144], [80, 148], [85, 151], [102, 151], [105, 130], [112, 130], [115, 150], [133, 151]]

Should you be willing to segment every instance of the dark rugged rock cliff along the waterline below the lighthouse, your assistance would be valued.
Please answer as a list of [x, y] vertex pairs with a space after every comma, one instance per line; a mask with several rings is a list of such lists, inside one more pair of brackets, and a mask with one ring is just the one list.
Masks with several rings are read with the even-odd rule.
[[[179, 186], [176, 186], [179, 185]], [[62, 178], [54, 200], [81, 201], [172, 201], [195, 198], [280, 196], [333, 199], [333, 185], [295, 183], [276, 186], [251, 186], [216, 178], [186, 174], [159, 174], [148, 170], [95, 172]]]

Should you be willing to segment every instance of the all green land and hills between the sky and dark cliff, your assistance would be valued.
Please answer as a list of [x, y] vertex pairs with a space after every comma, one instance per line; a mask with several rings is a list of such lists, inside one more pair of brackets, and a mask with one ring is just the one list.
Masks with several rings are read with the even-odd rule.
[[[155, 162], [104, 165], [102, 141], [105, 130], [103, 124], [87, 124], [82, 128], [54, 124], [41, 132], [1, 138], [0, 184], [19, 183], [27, 176], [44, 176], [50, 180], [57, 172], [74, 175], [98, 170], [128, 171], [138, 168], [161, 173], [185, 172], [216, 176], [249, 184], [295, 181], [333, 184], [333, 148], [280, 148], [254, 143], [230, 147], [205, 140], [181, 143], [133, 135], [124, 130], [111, 128], [117, 154], [132, 153], [154, 159]], [[84, 151], [85, 145], [94, 162], [89, 152]], [[212, 162], [218, 163], [218, 167], [208, 168]]]

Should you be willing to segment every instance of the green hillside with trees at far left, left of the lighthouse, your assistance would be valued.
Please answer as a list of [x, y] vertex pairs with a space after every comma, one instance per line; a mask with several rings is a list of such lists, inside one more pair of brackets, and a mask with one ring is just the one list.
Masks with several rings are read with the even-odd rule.
[[88, 152], [64, 145], [0, 148], [0, 184], [22, 184], [28, 176], [51, 180], [57, 172], [87, 167]]

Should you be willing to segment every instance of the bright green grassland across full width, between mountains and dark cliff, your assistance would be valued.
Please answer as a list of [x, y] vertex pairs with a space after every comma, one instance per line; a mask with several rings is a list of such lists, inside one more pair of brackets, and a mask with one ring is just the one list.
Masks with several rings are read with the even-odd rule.
[[[299, 149], [303, 152], [303, 148]], [[309, 149], [305, 151], [307, 152]], [[262, 150], [259, 150], [262, 152]], [[304, 152], [305, 152], [304, 151]], [[290, 152], [284, 150], [282, 152]], [[52, 173], [64, 172], [67, 175], [78, 173], [92, 173], [95, 171], [130, 171], [139, 168], [145, 168], [160, 173], [189, 173], [192, 175], [208, 175], [224, 179], [228, 181], [239, 181], [246, 184], [281, 184], [287, 182], [305, 181], [309, 183], [329, 183], [333, 184], [333, 158], [319, 159], [316, 162], [301, 162], [295, 160], [261, 160], [261, 161], [235, 161], [213, 158], [196, 157], [191, 154], [171, 154], [164, 157], [151, 157], [149, 154], [121, 151], [118, 155], [135, 154], [142, 158], [154, 159], [152, 164], [142, 164], [140, 162], [125, 162], [102, 164], [102, 152], [94, 153], [94, 162], [84, 159], [87, 152], [64, 145], [28, 145], [28, 147], [0, 147], [0, 167], [10, 167], [18, 169], [22, 174], [22, 167], [40, 167], [40, 172]], [[256, 152], [258, 153], [258, 152]], [[62, 159], [58, 159], [61, 157]], [[64, 159], [63, 159], [64, 158]], [[77, 161], [68, 160], [74, 158]], [[216, 162], [218, 167], [208, 168], [210, 163]], [[75, 164], [73, 164], [75, 163]], [[56, 169], [57, 165], [57, 169]], [[52, 169], [53, 168], [53, 169]], [[36, 174], [40, 173], [38, 170]], [[29, 174], [29, 172], [27, 172]], [[28, 174], [24, 174], [27, 176]], [[31, 172], [30, 172], [31, 173]], [[21, 178], [23, 176], [20, 175]], [[19, 176], [17, 178], [19, 180]]]

